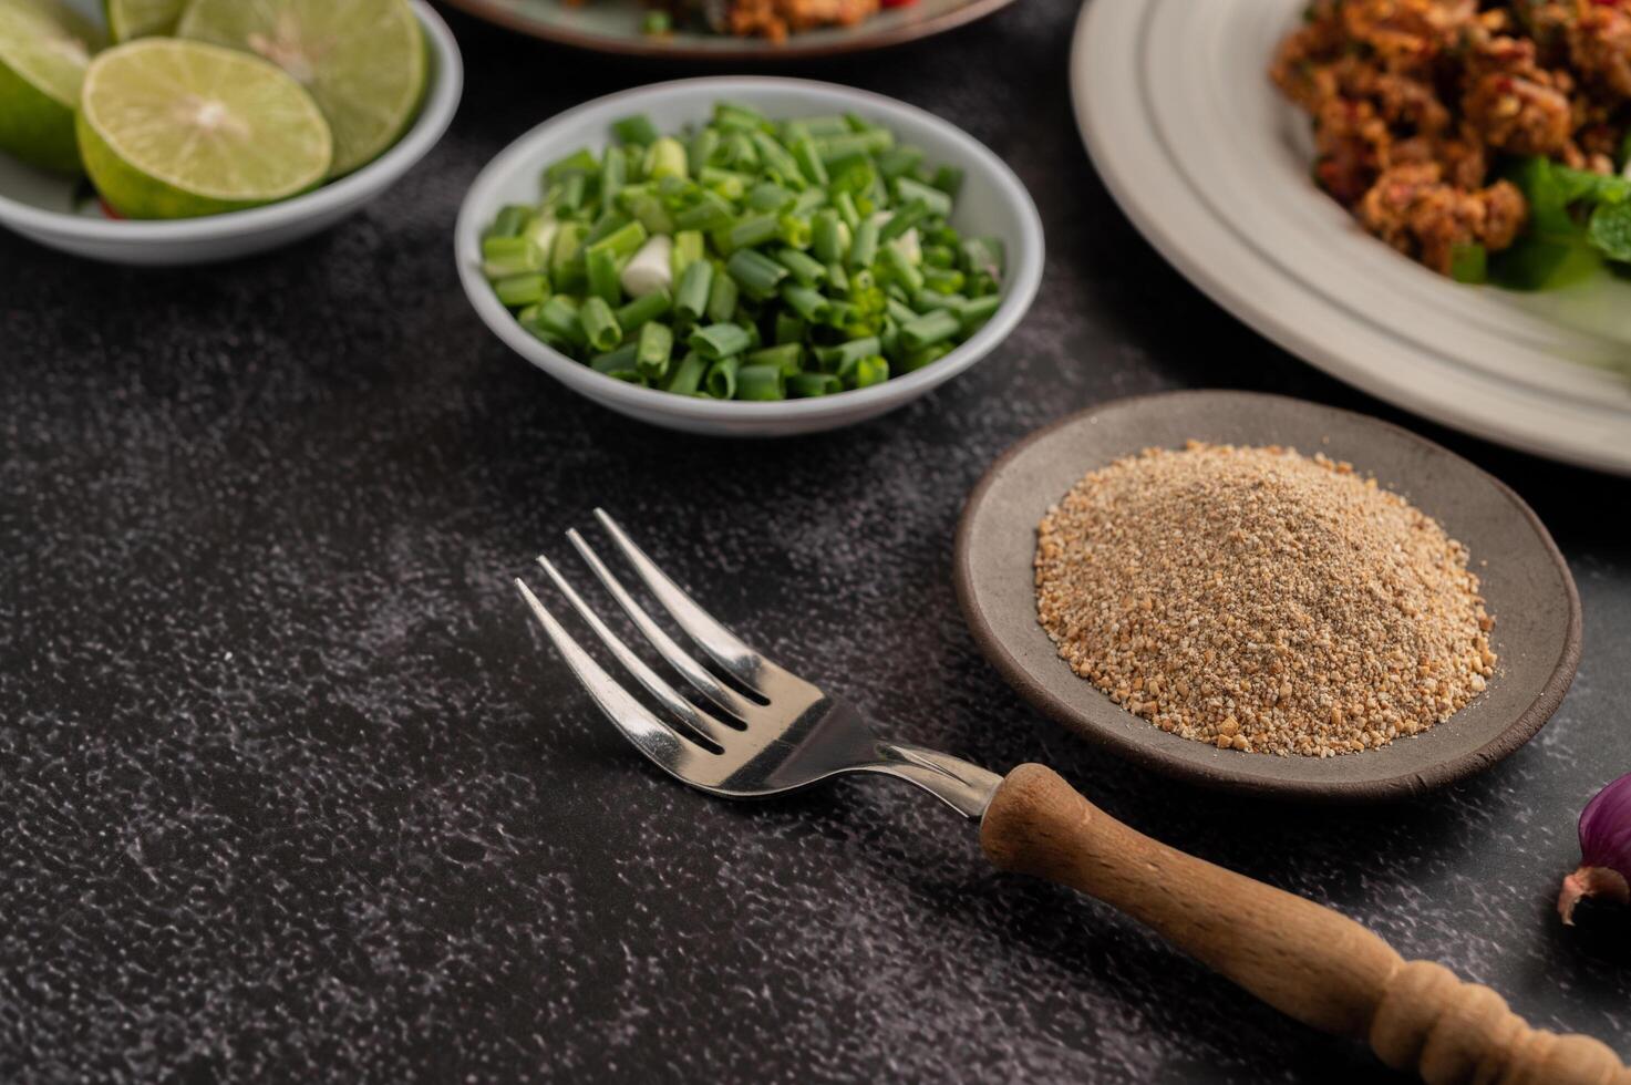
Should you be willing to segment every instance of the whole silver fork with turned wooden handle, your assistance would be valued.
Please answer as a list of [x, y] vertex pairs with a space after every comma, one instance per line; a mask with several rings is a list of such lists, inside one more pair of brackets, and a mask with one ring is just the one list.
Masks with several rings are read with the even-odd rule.
[[548, 558], [538, 565], [555, 587], [672, 723], [613, 680], [525, 581], [517, 578], [515, 587], [600, 711], [680, 782], [723, 798], [763, 798], [846, 772], [907, 780], [980, 819], [980, 842], [997, 866], [1120, 909], [1290, 1016], [1368, 1039], [1395, 1069], [1416, 1069], [1429, 1082], [1631, 1085], [1631, 1070], [1605, 1044], [1532, 1030], [1487, 987], [1465, 984], [1430, 961], [1406, 961], [1328, 907], [1158, 844], [1044, 765], [1019, 765], [1005, 778], [949, 754], [877, 737], [846, 702], [754, 651], [698, 607], [610, 516], [595, 509], [595, 517], [674, 623], [749, 693], [669, 636], [576, 530], [566, 537], [595, 578], [711, 708], [683, 697], [634, 654]]

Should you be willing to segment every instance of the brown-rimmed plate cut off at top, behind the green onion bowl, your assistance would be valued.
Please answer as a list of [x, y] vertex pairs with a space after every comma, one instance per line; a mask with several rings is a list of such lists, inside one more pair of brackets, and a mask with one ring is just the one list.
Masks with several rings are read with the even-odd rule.
[[930, 38], [972, 23], [1013, 0], [917, 0], [884, 8], [856, 26], [825, 26], [775, 42], [692, 29], [652, 36], [641, 31], [638, 0], [449, 0], [470, 15], [545, 41], [667, 60], [767, 62], [863, 52]]

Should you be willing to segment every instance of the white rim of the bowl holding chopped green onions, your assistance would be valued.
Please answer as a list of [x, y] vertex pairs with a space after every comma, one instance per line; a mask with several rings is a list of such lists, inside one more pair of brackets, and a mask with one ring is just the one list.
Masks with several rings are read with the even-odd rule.
[[[997, 313], [970, 339], [959, 344], [946, 357], [917, 372], [905, 374], [869, 388], [851, 388], [835, 395], [811, 400], [776, 400], [768, 403], [739, 400], [701, 400], [674, 395], [657, 388], [641, 388], [605, 374], [599, 374], [582, 362], [572, 361], [528, 334], [494, 297], [480, 268], [468, 258], [475, 251], [481, 232], [478, 220], [478, 204], [486, 206], [496, 199], [496, 191], [519, 168], [517, 163], [532, 155], [540, 142], [548, 139], [550, 129], [566, 126], [584, 114], [626, 108], [631, 103], [649, 98], [661, 98], [675, 91], [719, 93], [750, 98], [754, 91], [791, 90], [806, 95], [825, 95], [845, 100], [861, 108], [871, 108], [884, 114], [907, 114], [941, 131], [951, 144], [957, 147], [957, 165], [985, 170], [1005, 199], [1019, 217], [1019, 237], [1010, 241], [1010, 284]], [[827, 83], [822, 80], [789, 78], [780, 75], [701, 75], [662, 83], [646, 83], [612, 95], [603, 95], [586, 101], [581, 106], [558, 113], [553, 117], [533, 126], [504, 150], [501, 150], [476, 176], [458, 209], [458, 220], [453, 227], [453, 259], [458, 264], [458, 279], [465, 287], [465, 295], [475, 307], [481, 321], [509, 344], [517, 354], [533, 365], [574, 390], [584, 390], [608, 405], [618, 405], [641, 413], [667, 414], [696, 421], [775, 421], [775, 419], [814, 419], [833, 414], [848, 414], [864, 410], [868, 405], [887, 406], [905, 403], [930, 388], [951, 380], [982, 357], [990, 354], [1024, 318], [1042, 284], [1045, 264], [1045, 241], [1042, 235], [1042, 219], [1037, 214], [1036, 201], [1024, 183], [1014, 175], [1006, 162], [997, 157], [985, 144], [979, 142], [956, 124], [944, 121], [926, 109], [904, 103], [899, 98], [877, 95], [855, 86]]]

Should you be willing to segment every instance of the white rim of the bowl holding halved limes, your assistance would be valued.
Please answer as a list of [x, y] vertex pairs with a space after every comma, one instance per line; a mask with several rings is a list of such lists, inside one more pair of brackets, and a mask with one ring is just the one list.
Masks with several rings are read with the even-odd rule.
[[338, 181], [302, 196], [199, 219], [114, 220], [86, 219], [60, 210], [44, 210], [0, 193], [0, 222], [20, 230], [36, 230], [83, 241], [206, 241], [240, 233], [264, 233], [289, 227], [352, 201], [364, 199], [382, 178], [406, 173], [447, 132], [465, 86], [465, 65], [453, 31], [426, 0], [409, 0], [426, 41], [435, 54], [435, 70], [413, 126], [383, 155]]

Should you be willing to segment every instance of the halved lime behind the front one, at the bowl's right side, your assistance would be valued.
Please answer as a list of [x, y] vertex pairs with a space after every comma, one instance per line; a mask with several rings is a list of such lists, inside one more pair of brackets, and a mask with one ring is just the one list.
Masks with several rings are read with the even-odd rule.
[[424, 96], [429, 57], [408, 0], [194, 0], [178, 33], [300, 80], [334, 129], [334, 176], [395, 144]]

